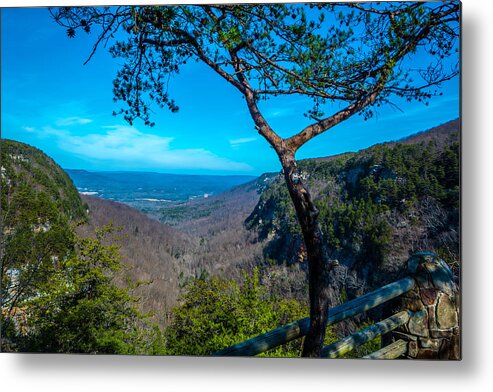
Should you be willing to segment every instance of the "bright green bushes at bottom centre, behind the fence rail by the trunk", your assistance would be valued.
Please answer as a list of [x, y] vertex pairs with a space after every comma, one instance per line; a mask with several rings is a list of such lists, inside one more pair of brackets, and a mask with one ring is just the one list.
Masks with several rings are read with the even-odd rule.
[[[252, 275], [244, 274], [241, 284], [218, 277], [196, 279], [173, 310], [173, 322], [166, 330], [166, 353], [210, 355], [307, 313], [307, 307], [294, 299], [270, 296], [260, 284], [257, 269]], [[331, 331], [327, 339], [333, 340]], [[298, 339], [262, 356], [299, 356], [301, 344]]]

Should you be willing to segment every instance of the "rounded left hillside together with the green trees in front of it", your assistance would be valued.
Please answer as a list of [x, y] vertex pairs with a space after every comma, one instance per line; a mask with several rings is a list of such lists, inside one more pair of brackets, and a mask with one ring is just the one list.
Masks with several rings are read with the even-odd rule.
[[1, 351], [150, 352], [154, 335], [130, 287], [110, 228], [80, 238], [86, 209], [43, 152], [2, 140]]

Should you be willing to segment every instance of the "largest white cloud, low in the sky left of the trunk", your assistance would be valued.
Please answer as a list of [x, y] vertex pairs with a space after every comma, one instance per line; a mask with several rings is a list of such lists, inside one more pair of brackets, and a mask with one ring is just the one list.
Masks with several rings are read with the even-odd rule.
[[220, 157], [203, 148], [174, 149], [173, 138], [140, 132], [130, 126], [106, 126], [101, 133], [73, 135], [46, 127], [59, 147], [81, 158], [135, 169], [208, 169], [249, 171], [250, 165]]

